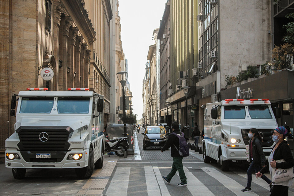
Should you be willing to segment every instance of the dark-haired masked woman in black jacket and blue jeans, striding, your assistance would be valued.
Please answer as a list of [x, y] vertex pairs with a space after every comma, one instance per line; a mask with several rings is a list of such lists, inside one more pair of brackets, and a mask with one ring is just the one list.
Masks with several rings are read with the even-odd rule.
[[[260, 137], [258, 130], [255, 128], [251, 128], [248, 137], [249, 140], [249, 158], [250, 158], [250, 165], [247, 170], [247, 186], [242, 189], [243, 192], [252, 192], [251, 190], [251, 181], [252, 181], [252, 171], [254, 173], [258, 172], [261, 167], [266, 166], [266, 156], [263, 153], [262, 149], [262, 138]], [[272, 181], [268, 179], [265, 175], [262, 176], [262, 179], [265, 180], [269, 187], [271, 188]]]

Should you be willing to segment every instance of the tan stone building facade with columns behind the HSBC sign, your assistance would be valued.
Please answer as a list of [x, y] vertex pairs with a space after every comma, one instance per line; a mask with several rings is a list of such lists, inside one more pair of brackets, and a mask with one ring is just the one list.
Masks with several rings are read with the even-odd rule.
[[[3, 1], [1, 15], [0, 150], [13, 133], [11, 96], [28, 87], [67, 90], [88, 87], [96, 32], [80, 0]], [[40, 71], [50, 67], [51, 81]], [[9, 123], [8, 123], [9, 122]]]

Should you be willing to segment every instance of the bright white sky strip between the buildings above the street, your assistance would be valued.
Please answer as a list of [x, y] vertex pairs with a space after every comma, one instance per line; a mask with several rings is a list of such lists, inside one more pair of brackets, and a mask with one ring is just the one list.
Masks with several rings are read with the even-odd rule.
[[142, 118], [142, 81], [153, 30], [159, 28], [167, 0], [119, 0], [121, 40], [128, 60], [128, 81], [133, 92], [133, 112]]

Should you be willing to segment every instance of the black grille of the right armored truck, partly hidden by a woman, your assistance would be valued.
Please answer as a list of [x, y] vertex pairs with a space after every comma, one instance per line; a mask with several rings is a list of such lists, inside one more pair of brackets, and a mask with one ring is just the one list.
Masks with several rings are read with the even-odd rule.
[[[249, 144], [250, 138], [248, 137], [250, 129], [242, 129], [242, 138], [245, 143], [245, 145]], [[273, 145], [272, 135], [273, 135], [273, 129], [258, 129], [258, 132], [262, 132], [263, 138], [262, 138], [262, 147], [271, 147]]]

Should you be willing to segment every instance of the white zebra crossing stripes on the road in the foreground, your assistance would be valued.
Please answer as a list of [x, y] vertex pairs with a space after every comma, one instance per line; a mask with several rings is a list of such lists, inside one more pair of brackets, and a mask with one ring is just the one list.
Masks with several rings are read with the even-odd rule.
[[[226, 193], [223, 193], [223, 195], [238, 195], [238, 196], [258, 196], [257, 193], [254, 192], [242, 192], [241, 189], [244, 188], [243, 185], [236, 182], [234, 179], [230, 178], [229, 176], [221, 173], [217, 169], [213, 167], [199, 167], [200, 171], [204, 172], [203, 175], [209, 175], [213, 179], [216, 179], [221, 185], [225, 187], [227, 190]], [[128, 187], [129, 187], [129, 179], [130, 177], [130, 170], [131, 169], [138, 169], [141, 170], [140, 167], [136, 168], [130, 168], [130, 167], [118, 167], [116, 171], [114, 172], [114, 175], [109, 183], [109, 186], [106, 190], [104, 190], [104, 195], [107, 196], [126, 196], [126, 195], [134, 195], [134, 193], [128, 194]], [[142, 175], [145, 174], [145, 183], [147, 188], [147, 194], [148, 196], [174, 196], [179, 195], [181, 193], [180, 190], [185, 190], [186, 192], [189, 191], [190, 195], [192, 196], [214, 196], [214, 195], [220, 195], [221, 192], [216, 191], [214, 189], [209, 189], [209, 186], [207, 184], [205, 185], [200, 181], [197, 177], [197, 172], [191, 172], [189, 171], [189, 168], [184, 167], [185, 175], [187, 177], [187, 187], [179, 187], [179, 191], [174, 192], [171, 191], [170, 186], [176, 186], [174, 183], [171, 183], [167, 185], [167, 183], [162, 179], [162, 175], [167, 175], [167, 173], [170, 171], [171, 167], [158, 167], [158, 166], [144, 166], [144, 171], [141, 173]], [[162, 173], [161, 173], [162, 172]], [[179, 176], [178, 172], [177, 175]], [[246, 174], [237, 174], [243, 178], [247, 178]], [[178, 178], [178, 177], [177, 177]], [[268, 191], [266, 182], [263, 182], [263, 180], [256, 180], [253, 179], [252, 183], [256, 183], [259, 186], [265, 188], [264, 191], [259, 190], [262, 192], [260, 195], [264, 195], [264, 192]], [[221, 186], [220, 185], [220, 186]], [[213, 185], [212, 185], [213, 186]], [[176, 186], [176, 188], [178, 188]], [[145, 188], [144, 188], [145, 189]], [[267, 190], [266, 190], [267, 189]], [[220, 188], [220, 190], [224, 190], [224, 188]], [[106, 192], [105, 192], [106, 191]], [[141, 190], [142, 192], [146, 190]], [[170, 192], [171, 191], [171, 192]], [[185, 192], [184, 191], [184, 192]], [[146, 195], [146, 192], [145, 192]], [[293, 195], [293, 192], [289, 190], [289, 195]]]

